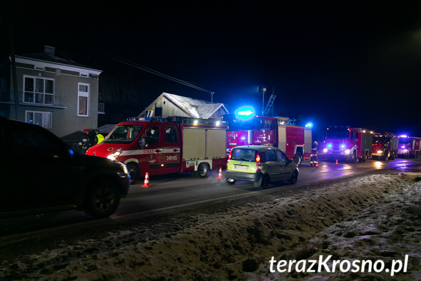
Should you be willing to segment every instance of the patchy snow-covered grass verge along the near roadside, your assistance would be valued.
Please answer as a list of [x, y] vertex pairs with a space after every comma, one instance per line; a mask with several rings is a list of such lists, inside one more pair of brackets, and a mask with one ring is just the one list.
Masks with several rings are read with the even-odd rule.
[[[421, 174], [371, 175], [1, 265], [2, 280], [417, 280]], [[408, 272], [270, 272], [269, 260], [403, 259]]]

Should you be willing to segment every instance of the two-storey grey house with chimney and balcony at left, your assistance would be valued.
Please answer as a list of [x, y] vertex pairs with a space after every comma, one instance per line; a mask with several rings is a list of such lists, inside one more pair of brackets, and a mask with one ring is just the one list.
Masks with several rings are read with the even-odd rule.
[[98, 103], [101, 70], [59, 58], [49, 46], [16, 55], [15, 65], [16, 82], [12, 57], [2, 67], [0, 115], [51, 130], [77, 150], [80, 132], [97, 129], [104, 113]]

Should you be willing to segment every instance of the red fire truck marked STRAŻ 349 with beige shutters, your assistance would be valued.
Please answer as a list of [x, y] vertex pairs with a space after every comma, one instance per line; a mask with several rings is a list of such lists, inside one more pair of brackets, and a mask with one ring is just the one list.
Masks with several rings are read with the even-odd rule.
[[[226, 166], [226, 127], [219, 123], [184, 123], [174, 116], [164, 120], [131, 118], [122, 122], [86, 154], [119, 160], [127, 165], [131, 183], [148, 173], [191, 171], [205, 177], [209, 169]], [[134, 120], [136, 119], [136, 120]]]

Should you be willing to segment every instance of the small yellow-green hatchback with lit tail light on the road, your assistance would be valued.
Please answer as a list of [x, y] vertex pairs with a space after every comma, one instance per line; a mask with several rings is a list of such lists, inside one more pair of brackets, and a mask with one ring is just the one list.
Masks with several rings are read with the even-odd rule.
[[287, 180], [295, 184], [298, 172], [297, 164], [278, 148], [238, 146], [228, 156], [225, 179], [228, 184], [242, 180], [265, 189], [272, 181]]

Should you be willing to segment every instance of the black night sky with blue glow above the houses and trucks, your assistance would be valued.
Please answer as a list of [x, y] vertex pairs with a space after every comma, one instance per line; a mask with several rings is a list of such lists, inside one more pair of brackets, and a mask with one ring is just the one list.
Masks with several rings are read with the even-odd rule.
[[13, 18], [17, 55], [49, 45], [100, 79], [124, 69], [134, 112], [162, 92], [210, 101], [213, 91], [260, 113], [265, 86], [274, 114], [421, 137], [421, 1], [175, 2], [23, 1], [5, 10], [0, 34], [9, 41]]

